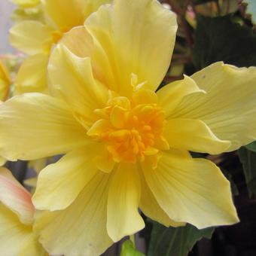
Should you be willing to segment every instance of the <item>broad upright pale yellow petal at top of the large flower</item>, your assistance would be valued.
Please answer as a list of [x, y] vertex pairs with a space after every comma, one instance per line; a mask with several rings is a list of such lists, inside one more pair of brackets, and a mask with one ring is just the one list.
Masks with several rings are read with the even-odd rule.
[[[156, 0], [120, 0], [99, 8], [85, 26], [93, 37], [94, 46], [88, 54], [99, 81], [122, 95], [133, 90], [134, 75], [135, 86], [142, 82], [152, 90], [159, 86], [175, 43], [175, 14]], [[161, 47], [157, 38], [163, 38]]]

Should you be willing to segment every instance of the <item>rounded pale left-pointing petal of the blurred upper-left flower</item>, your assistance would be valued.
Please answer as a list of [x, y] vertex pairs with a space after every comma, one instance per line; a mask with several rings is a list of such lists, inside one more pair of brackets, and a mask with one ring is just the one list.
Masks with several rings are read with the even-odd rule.
[[50, 50], [53, 29], [38, 21], [23, 21], [10, 30], [11, 45], [24, 53], [34, 55]]

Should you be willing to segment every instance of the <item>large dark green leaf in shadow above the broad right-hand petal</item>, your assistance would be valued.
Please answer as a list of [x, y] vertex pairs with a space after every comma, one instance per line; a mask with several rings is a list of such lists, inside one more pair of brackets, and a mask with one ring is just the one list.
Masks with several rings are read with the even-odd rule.
[[194, 64], [203, 69], [213, 62], [235, 66], [256, 66], [256, 35], [251, 27], [241, 26], [235, 17], [197, 18]]

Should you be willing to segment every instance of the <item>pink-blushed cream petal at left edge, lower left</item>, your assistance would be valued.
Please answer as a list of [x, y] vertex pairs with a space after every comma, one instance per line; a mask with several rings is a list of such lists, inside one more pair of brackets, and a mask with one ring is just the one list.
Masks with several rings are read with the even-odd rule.
[[35, 209], [31, 195], [11, 172], [3, 167], [0, 167], [0, 202], [11, 209], [22, 223], [32, 223]]

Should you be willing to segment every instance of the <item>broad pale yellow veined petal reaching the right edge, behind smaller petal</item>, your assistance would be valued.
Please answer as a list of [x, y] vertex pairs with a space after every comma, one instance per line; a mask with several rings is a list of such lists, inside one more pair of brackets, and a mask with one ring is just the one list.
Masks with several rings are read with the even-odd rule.
[[236, 68], [216, 62], [192, 77], [205, 95], [184, 98], [172, 117], [203, 120], [233, 151], [256, 139], [256, 68]]

